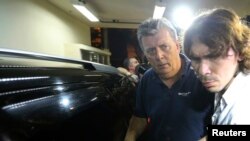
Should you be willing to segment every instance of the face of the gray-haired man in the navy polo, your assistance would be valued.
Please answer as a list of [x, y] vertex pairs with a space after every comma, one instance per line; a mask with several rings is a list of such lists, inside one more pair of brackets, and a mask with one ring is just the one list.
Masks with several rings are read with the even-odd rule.
[[152, 36], [142, 37], [144, 54], [152, 68], [160, 77], [171, 78], [180, 66], [180, 48], [166, 29]]

